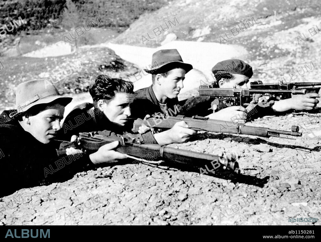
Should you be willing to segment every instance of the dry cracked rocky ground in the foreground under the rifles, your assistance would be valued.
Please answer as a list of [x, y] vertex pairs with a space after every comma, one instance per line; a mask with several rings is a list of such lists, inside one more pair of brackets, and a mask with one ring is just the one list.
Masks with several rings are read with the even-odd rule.
[[248, 125], [303, 132], [296, 140], [200, 133], [181, 149], [237, 154], [241, 174], [144, 164], [99, 168], [0, 202], [6, 225], [290, 225], [321, 215], [320, 112], [258, 119]]

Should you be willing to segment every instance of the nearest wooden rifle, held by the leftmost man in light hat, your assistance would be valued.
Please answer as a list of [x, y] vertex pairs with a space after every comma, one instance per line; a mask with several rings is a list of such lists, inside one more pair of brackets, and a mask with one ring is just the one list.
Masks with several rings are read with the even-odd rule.
[[[236, 174], [240, 173], [239, 164], [233, 154], [220, 157], [218, 155], [176, 149], [160, 146], [158, 144], [144, 144], [140, 134], [134, 135], [124, 133], [123, 135], [111, 135], [107, 130], [102, 132], [79, 133], [79, 137], [76, 141], [62, 142], [57, 153], [58, 155], [65, 154], [66, 148], [74, 147], [75, 149], [82, 149], [82, 151], [87, 154], [91, 154], [97, 151], [101, 146], [113, 141], [119, 141], [119, 146], [115, 149], [117, 152], [138, 157], [136, 160], [143, 160], [143, 163], [144, 161], [151, 163], [148, 161], [151, 160], [150, 157], [152, 157], [152, 160], [155, 160], [156, 158], [164, 160], [165, 164], [168, 166], [173, 162], [193, 167], [206, 166], [206, 168], [208, 168], [208, 166], [213, 166], [214, 170], [220, 167]], [[215, 164], [213, 164], [214, 162]]]

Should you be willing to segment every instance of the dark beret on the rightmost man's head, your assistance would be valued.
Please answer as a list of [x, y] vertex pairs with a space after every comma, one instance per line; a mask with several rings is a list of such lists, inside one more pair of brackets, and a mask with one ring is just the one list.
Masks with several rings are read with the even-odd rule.
[[253, 75], [252, 67], [245, 63], [244, 61], [238, 59], [230, 59], [217, 63], [213, 66], [212, 72], [215, 75], [224, 74], [224, 73], [232, 73], [232, 74], [240, 74], [251, 78]]

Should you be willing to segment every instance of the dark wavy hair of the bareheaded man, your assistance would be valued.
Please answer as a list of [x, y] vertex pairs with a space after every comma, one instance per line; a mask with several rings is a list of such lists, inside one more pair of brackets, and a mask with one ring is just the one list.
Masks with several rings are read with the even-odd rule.
[[98, 100], [111, 100], [117, 92], [134, 93], [134, 84], [118, 78], [110, 78], [107, 75], [99, 75], [95, 83], [89, 89], [89, 93], [97, 106]]

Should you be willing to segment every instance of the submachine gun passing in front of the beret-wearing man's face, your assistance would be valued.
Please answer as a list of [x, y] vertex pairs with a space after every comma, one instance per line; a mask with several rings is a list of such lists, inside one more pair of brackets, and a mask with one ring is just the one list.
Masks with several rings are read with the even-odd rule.
[[[260, 106], [270, 106], [271, 102], [258, 103], [257, 94], [263, 96], [273, 97], [275, 95], [285, 94], [306, 94], [306, 89], [291, 89], [291, 90], [279, 90], [279, 89], [247, 89], [247, 88], [214, 88], [213, 85], [203, 85], [198, 89], [199, 96], [214, 97], [212, 102], [217, 105], [217, 111], [230, 107], [230, 106], [248, 106], [251, 104], [259, 104]], [[252, 106], [254, 108], [255, 106]], [[251, 112], [251, 110], [247, 110]]]

